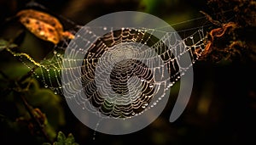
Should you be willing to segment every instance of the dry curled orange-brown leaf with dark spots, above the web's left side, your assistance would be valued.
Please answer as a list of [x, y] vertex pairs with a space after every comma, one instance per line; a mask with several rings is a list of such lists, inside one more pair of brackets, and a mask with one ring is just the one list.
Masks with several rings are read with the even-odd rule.
[[22, 25], [25, 25], [35, 36], [45, 41], [57, 44], [63, 38], [74, 38], [69, 31], [63, 31], [60, 21], [52, 15], [33, 9], [26, 9], [21, 10], [17, 16]]

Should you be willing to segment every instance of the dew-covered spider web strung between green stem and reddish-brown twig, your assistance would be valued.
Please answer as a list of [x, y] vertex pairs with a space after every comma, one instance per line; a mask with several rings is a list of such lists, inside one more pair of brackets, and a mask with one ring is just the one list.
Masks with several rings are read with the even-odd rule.
[[[77, 25], [77, 28], [81, 26]], [[77, 77], [82, 81], [86, 98], [75, 99], [79, 104], [89, 100], [91, 106], [84, 105], [83, 109], [114, 118], [129, 118], [157, 105], [164, 96], [159, 94], [165, 93], [162, 86], [166, 89], [173, 86], [192, 67], [201, 56], [207, 38], [204, 26], [193, 28], [194, 33], [182, 40], [161, 28], [119, 28], [113, 31], [112, 27], [103, 25], [99, 29], [110, 30], [104, 36], [97, 36], [87, 27], [82, 29], [85, 35], [95, 37], [95, 42], [90, 45], [88, 40], [81, 38], [84, 47], [89, 47], [87, 52], [82, 48], [75, 49], [76, 44], [69, 44], [74, 47], [73, 55], [84, 55], [83, 64], [79, 66], [81, 74]], [[161, 33], [163, 37], [158, 38], [154, 36], [155, 33]], [[38, 66], [33, 66], [34, 64], [21, 57], [22, 62], [32, 69], [32, 73], [43, 82], [44, 87], [53, 90], [55, 94], [62, 95], [63, 87], [73, 87], [71, 90], [74, 90], [79, 84], [72, 74], [78, 68], [63, 70], [63, 62], [78, 61], [63, 59], [68, 43], [64, 41], [55, 46]], [[166, 46], [165, 43], [170, 45]], [[192, 60], [187, 66], [179, 64], [184, 53], [189, 53]], [[155, 61], [156, 59], [161, 59], [163, 63], [155, 64], [154, 62], [160, 62]], [[167, 71], [164, 70], [165, 67]], [[101, 73], [106, 70], [109, 70], [107, 74]], [[65, 72], [71, 72], [68, 83], [61, 82], [61, 73]], [[108, 77], [110, 81], [106, 83], [105, 78]], [[75, 92], [69, 93], [72, 98]], [[149, 106], [155, 96], [158, 99]]]

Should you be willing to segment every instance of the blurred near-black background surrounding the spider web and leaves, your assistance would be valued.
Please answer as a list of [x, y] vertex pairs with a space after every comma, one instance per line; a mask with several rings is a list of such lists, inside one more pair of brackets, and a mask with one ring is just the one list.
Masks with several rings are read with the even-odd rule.
[[[11, 40], [20, 31], [22, 26], [15, 23], [15, 20], [9, 19], [13, 18], [21, 9], [27, 8], [26, 4], [29, 2], [26, 0], [0, 0], [1, 38]], [[189, 20], [188, 23], [173, 25], [177, 31], [184, 31], [203, 24], [203, 22], [194, 20], [204, 16], [199, 12], [200, 10], [210, 15], [216, 15], [224, 13], [224, 8], [226, 10], [234, 8], [233, 1], [230, 2], [230, 5], [218, 9], [217, 5], [207, 4], [207, 1], [203, 0], [38, 0], [34, 2], [40, 3], [40, 5], [33, 6], [33, 8], [41, 9], [40, 7], [44, 6], [49, 14], [60, 18], [67, 30], [73, 29], [73, 25], [70, 25], [68, 20], [72, 20], [75, 25], [85, 25], [103, 14], [135, 10], [154, 14], [160, 19], [166, 20], [170, 25]], [[222, 3], [222, 1], [215, 2]], [[241, 3], [243, 2], [241, 1]], [[232, 14], [226, 17], [228, 18], [222, 22], [237, 18]], [[215, 19], [220, 18], [223, 17], [215, 17]], [[9, 31], [9, 25], [15, 25], [15, 29]], [[255, 26], [254, 23], [251, 27], [253, 26]], [[21, 42], [20, 50], [29, 53], [36, 60], [43, 59], [45, 54], [54, 47], [53, 44], [39, 40], [35, 36], [30, 37], [33, 42], [29, 42], [29, 39], [26, 39], [26, 44]], [[255, 44], [253, 43], [251, 46], [255, 47]], [[4, 51], [0, 52], [0, 56], [0, 66], [3, 71], [6, 69], [6, 64], [11, 65], [12, 61], [17, 61]], [[247, 59], [247, 55], [241, 55], [236, 59], [224, 59], [220, 62], [209, 59], [196, 62], [194, 65], [194, 87], [189, 104], [178, 120], [173, 123], [169, 122], [169, 116], [178, 93], [176, 88], [178, 84], [172, 89], [169, 103], [160, 117], [141, 131], [124, 136], [110, 136], [100, 132], [96, 132], [94, 135], [93, 130], [73, 116], [63, 97], [61, 97], [61, 105], [66, 123], [60, 125], [57, 131], [63, 131], [65, 134], [73, 133], [79, 144], [184, 144], [187, 142], [242, 144], [256, 142], [256, 133], [254, 133], [256, 130], [254, 60]], [[4, 94], [1, 94], [0, 97], [5, 98]], [[8, 105], [1, 107], [1, 115], [9, 116], [13, 113], [13, 104], [9, 104], [11, 107]], [[2, 127], [5, 125], [3, 118], [1, 118], [1, 124]], [[34, 140], [37, 137], [34, 137], [29, 131], [11, 131], [9, 128], [3, 128], [0, 129], [0, 142], [36, 142]], [[93, 140], [93, 137], [96, 139]]]

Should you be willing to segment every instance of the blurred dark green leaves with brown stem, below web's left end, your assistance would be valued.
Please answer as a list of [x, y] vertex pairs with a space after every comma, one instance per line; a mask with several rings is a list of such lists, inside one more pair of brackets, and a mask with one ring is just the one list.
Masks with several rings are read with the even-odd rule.
[[[42, 137], [42, 130], [49, 140], [54, 139], [55, 131], [65, 124], [60, 96], [41, 87], [35, 78], [22, 78], [30, 74], [25, 65], [12, 62], [2, 66], [0, 93], [5, 95], [1, 98], [1, 109], [13, 110], [4, 103], [15, 103], [15, 112], [3, 114], [3, 120], [12, 130], [19, 129], [19, 125], [26, 125], [32, 135]], [[15, 118], [16, 121], [9, 118]]]

